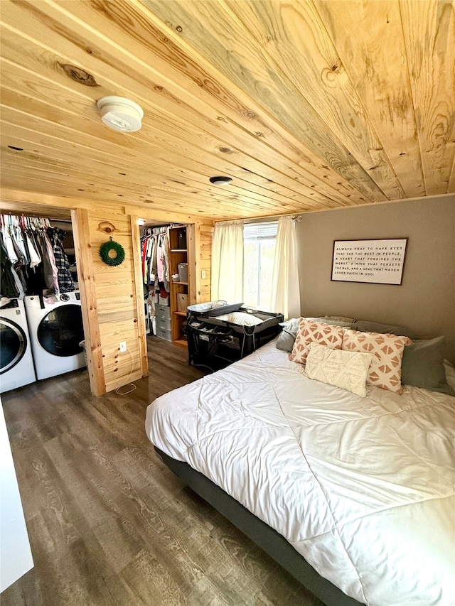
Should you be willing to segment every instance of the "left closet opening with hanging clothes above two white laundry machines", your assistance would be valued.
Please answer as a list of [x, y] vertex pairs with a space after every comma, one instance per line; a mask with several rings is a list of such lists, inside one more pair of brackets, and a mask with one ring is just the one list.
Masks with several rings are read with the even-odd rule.
[[0, 215], [0, 392], [86, 366], [70, 218]]

